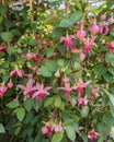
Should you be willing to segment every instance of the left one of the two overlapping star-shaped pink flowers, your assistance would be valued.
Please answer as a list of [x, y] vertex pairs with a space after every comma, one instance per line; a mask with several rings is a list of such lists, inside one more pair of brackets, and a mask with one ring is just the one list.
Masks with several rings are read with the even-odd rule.
[[24, 95], [33, 95], [34, 91], [36, 90], [35, 87], [33, 87], [34, 84], [34, 80], [30, 79], [26, 86], [24, 85], [18, 85], [18, 87], [20, 87], [23, 91]]

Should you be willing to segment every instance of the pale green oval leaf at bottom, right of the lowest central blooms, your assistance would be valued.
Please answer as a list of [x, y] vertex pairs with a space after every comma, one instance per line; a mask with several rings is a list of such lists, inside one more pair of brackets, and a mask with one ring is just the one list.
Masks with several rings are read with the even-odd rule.
[[71, 141], [75, 141], [76, 140], [76, 132], [75, 132], [73, 128], [71, 126], [67, 126], [65, 129], [66, 129], [68, 138]]

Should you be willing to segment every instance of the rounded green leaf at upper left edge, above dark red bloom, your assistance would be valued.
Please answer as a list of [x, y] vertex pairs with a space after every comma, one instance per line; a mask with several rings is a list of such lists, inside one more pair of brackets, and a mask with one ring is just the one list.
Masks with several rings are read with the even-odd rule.
[[4, 42], [12, 42], [13, 39], [13, 35], [10, 32], [2, 32], [0, 36]]

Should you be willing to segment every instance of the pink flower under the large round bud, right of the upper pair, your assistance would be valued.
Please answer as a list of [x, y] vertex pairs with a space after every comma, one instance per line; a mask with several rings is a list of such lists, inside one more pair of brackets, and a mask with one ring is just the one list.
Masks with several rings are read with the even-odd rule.
[[82, 39], [82, 43], [84, 45], [84, 47], [83, 47], [84, 51], [91, 51], [92, 50], [92, 46], [94, 45], [94, 40], [95, 40], [94, 37], [88, 38], [88, 39], [87, 38]]

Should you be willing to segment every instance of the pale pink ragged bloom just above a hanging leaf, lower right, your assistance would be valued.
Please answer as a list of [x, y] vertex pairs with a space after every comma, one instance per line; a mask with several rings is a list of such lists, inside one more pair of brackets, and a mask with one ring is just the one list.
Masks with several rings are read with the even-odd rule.
[[78, 94], [78, 96], [77, 96], [78, 106], [87, 106], [88, 102], [89, 100], [86, 97], [82, 97], [80, 94]]

